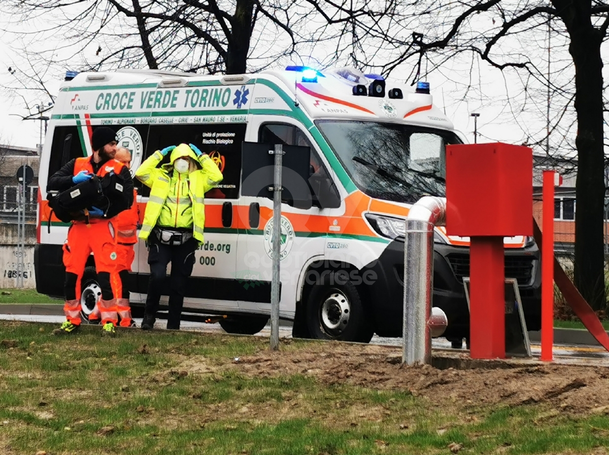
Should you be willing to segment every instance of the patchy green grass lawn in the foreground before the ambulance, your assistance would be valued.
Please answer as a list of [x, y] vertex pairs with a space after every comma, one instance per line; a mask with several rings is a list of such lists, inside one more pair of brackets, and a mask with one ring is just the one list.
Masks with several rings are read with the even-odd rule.
[[[330, 381], [302, 367], [326, 348], [336, 351], [331, 369], [347, 350], [380, 347], [292, 340], [270, 355], [259, 337], [122, 330], [108, 339], [99, 327], [54, 337], [52, 328], [0, 321], [2, 454], [600, 454], [609, 445], [605, 415], [507, 398], [438, 405], [407, 386], [350, 383], [357, 364]], [[362, 381], [385, 375], [376, 370]], [[432, 381], [419, 390], [465, 373], [387, 364], [398, 379], [421, 372]]]

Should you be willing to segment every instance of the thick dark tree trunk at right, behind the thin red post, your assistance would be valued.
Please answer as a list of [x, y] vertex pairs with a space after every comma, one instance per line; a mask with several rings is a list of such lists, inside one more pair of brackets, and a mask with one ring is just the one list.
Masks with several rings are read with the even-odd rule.
[[[586, 3], [586, 2], [583, 2]], [[588, 2], [590, 3], [590, 2]], [[576, 2], [577, 4], [577, 2]], [[589, 9], [589, 8], [588, 8]], [[574, 5], [563, 20], [571, 36], [576, 70], [577, 182], [574, 282], [595, 310], [604, 310], [604, 145], [602, 36], [590, 12]]]

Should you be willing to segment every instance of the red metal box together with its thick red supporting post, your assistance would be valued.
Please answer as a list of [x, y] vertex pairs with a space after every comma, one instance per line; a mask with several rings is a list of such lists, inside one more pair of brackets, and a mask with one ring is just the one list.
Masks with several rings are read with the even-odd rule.
[[470, 237], [470, 356], [505, 358], [504, 237], [533, 234], [529, 147], [446, 147], [446, 232]]

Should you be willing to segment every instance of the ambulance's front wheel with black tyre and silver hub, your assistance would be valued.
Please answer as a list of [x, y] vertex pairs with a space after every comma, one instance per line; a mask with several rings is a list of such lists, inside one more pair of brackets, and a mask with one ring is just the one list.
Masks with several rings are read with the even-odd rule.
[[312, 285], [306, 308], [311, 338], [364, 343], [372, 339], [374, 327], [362, 293], [348, 278], [334, 272], [325, 282]]

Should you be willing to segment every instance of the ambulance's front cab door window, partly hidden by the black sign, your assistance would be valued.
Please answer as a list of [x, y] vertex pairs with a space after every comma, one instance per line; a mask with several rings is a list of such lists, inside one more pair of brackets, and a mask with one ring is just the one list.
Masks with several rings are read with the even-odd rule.
[[[322, 159], [317, 155], [315, 147], [311, 144], [308, 137], [300, 128], [287, 123], [266, 123], [260, 127], [258, 134], [258, 142], [263, 144], [283, 144], [283, 145], [300, 145], [301, 147], [309, 147], [311, 149], [311, 158], [309, 159], [309, 187], [311, 188], [311, 196], [313, 202], [317, 200], [319, 194], [319, 185], [322, 180], [331, 181], [328, 170], [323, 165]], [[313, 186], [317, 188], [314, 190]], [[336, 192], [336, 188], [331, 190]], [[336, 198], [338, 193], [336, 192]]]

